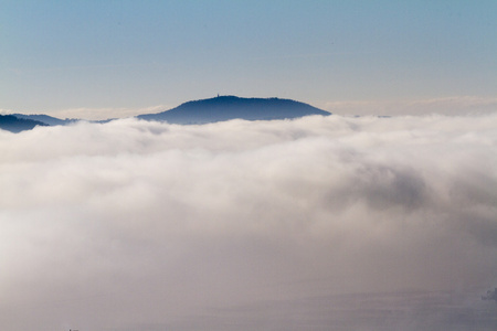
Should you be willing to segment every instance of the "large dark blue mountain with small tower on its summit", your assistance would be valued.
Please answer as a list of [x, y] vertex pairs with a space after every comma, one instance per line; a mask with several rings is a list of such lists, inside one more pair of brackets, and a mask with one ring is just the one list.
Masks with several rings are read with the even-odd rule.
[[218, 96], [210, 99], [188, 102], [158, 114], [139, 115], [137, 118], [188, 125], [224, 121], [235, 118], [271, 120], [298, 118], [308, 115], [327, 116], [330, 113], [290, 99]]

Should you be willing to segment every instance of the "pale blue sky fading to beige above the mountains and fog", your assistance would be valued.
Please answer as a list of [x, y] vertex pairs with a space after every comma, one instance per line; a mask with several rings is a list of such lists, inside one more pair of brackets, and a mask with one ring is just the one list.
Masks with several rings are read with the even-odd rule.
[[218, 93], [496, 109], [497, 1], [0, 0], [3, 113], [124, 117]]

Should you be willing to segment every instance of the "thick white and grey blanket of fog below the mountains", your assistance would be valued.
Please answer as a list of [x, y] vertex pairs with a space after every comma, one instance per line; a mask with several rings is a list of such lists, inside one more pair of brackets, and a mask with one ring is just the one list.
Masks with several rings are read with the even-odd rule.
[[0, 131], [0, 329], [495, 330], [496, 125]]

